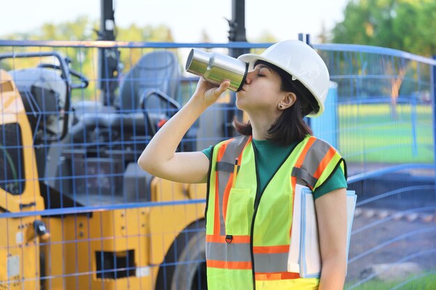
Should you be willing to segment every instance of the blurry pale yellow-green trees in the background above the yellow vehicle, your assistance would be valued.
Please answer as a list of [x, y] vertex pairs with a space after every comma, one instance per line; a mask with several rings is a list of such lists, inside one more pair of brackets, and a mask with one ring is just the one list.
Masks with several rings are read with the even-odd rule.
[[[96, 40], [99, 23], [96, 20], [88, 19], [86, 16], [77, 17], [71, 22], [59, 24], [46, 23], [33, 31], [23, 33], [12, 33], [3, 35], [0, 38], [5, 40]], [[116, 40], [130, 42], [173, 42], [171, 30], [164, 25], [159, 26], [130, 26], [116, 27]], [[119, 49], [120, 63], [123, 64], [123, 72], [130, 70], [132, 65], [139, 61], [139, 58], [151, 49]], [[24, 52], [24, 51], [53, 51], [52, 47], [0, 47], [1, 52]], [[56, 51], [63, 56], [70, 58], [70, 67], [81, 72], [90, 79], [86, 90], [74, 90], [73, 100], [98, 99], [100, 92], [97, 90], [98, 79], [98, 49], [92, 47], [59, 47]], [[26, 58], [20, 61], [6, 61], [1, 63], [5, 70], [24, 69], [36, 67], [39, 63], [55, 63], [47, 58]]]

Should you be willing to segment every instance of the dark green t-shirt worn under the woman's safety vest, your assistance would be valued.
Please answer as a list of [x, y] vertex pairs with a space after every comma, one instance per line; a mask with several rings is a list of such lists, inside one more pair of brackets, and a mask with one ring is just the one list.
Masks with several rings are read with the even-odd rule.
[[[283, 146], [274, 143], [271, 140], [254, 140], [254, 146], [256, 147], [256, 162], [258, 163], [259, 170], [259, 181], [260, 181], [260, 193], [263, 193], [263, 190], [267, 186], [272, 176], [277, 171], [279, 166], [285, 161], [285, 159], [289, 156], [290, 151], [293, 150], [297, 143], [294, 143], [290, 146]], [[212, 157], [212, 146], [206, 148], [202, 151], [208, 159], [210, 160]], [[323, 184], [320, 188], [316, 188], [313, 192], [313, 198], [319, 198], [320, 196], [328, 193], [330, 191], [334, 191], [338, 188], [347, 188], [347, 181], [345, 180], [345, 175], [340, 166], [336, 169], [333, 175], [327, 179], [325, 184]], [[258, 200], [258, 198], [256, 198]]]

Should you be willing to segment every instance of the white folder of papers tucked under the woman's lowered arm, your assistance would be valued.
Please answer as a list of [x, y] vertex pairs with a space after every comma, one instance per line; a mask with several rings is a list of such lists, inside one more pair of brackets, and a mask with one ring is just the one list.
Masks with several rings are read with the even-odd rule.
[[[355, 191], [347, 191], [347, 259], [356, 200]], [[297, 184], [294, 195], [288, 272], [299, 273], [300, 277], [304, 278], [320, 277], [321, 266], [318, 222], [313, 193], [308, 187]]]

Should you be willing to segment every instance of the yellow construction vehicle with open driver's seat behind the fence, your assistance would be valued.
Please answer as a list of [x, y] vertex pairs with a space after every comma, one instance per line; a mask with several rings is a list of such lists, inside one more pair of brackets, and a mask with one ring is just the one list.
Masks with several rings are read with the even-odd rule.
[[205, 289], [205, 184], [137, 166], [180, 108], [176, 56], [143, 56], [116, 106], [71, 105], [88, 79], [56, 52], [3, 54], [0, 68], [18, 58], [41, 63], [0, 70], [0, 290]]

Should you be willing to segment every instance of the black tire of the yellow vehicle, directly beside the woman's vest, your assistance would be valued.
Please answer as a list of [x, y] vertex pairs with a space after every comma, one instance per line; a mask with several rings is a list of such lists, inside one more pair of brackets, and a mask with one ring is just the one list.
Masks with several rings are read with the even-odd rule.
[[189, 225], [178, 236], [165, 257], [165, 264], [169, 265], [159, 269], [156, 289], [207, 289], [204, 220]]

